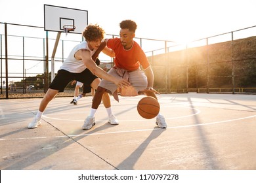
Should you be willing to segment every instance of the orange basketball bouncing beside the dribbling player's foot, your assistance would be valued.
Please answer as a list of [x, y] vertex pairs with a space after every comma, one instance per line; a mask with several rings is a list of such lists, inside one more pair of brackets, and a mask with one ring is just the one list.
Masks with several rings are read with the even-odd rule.
[[144, 97], [140, 99], [137, 110], [142, 118], [152, 119], [160, 111], [160, 104], [154, 97]]

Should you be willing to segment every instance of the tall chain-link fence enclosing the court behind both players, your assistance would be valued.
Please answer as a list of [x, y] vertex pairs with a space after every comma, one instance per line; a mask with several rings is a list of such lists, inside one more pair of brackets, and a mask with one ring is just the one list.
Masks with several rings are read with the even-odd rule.
[[[186, 45], [135, 38], [154, 70], [154, 88], [161, 93], [256, 93], [256, 26], [200, 39]], [[0, 23], [0, 99], [43, 97], [70, 50], [83, 41], [77, 34], [61, 35], [54, 65], [54, 32], [43, 27]], [[106, 35], [106, 38], [118, 35]], [[112, 59], [100, 54], [105, 70]], [[74, 86], [64, 93], [74, 95]]]

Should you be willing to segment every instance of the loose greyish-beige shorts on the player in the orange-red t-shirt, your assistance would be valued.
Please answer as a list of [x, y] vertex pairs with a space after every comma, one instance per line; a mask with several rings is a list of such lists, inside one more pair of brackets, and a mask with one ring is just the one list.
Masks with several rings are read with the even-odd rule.
[[[108, 71], [108, 74], [112, 76], [116, 76], [117, 78], [120, 78], [120, 76], [117, 74], [116, 69], [111, 68], [110, 71]], [[128, 72], [129, 74], [129, 82], [135, 88], [137, 92], [146, 89], [148, 86], [148, 79], [146, 78], [146, 75], [143, 71], [140, 69], [137, 69], [136, 71]], [[113, 94], [118, 86], [114, 84], [114, 82], [110, 82], [108, 80], [102, 79], [100, 81], [100, 84], [98, 86], [101, 86], [102, 88], [106, 88], [109, 93]]]

